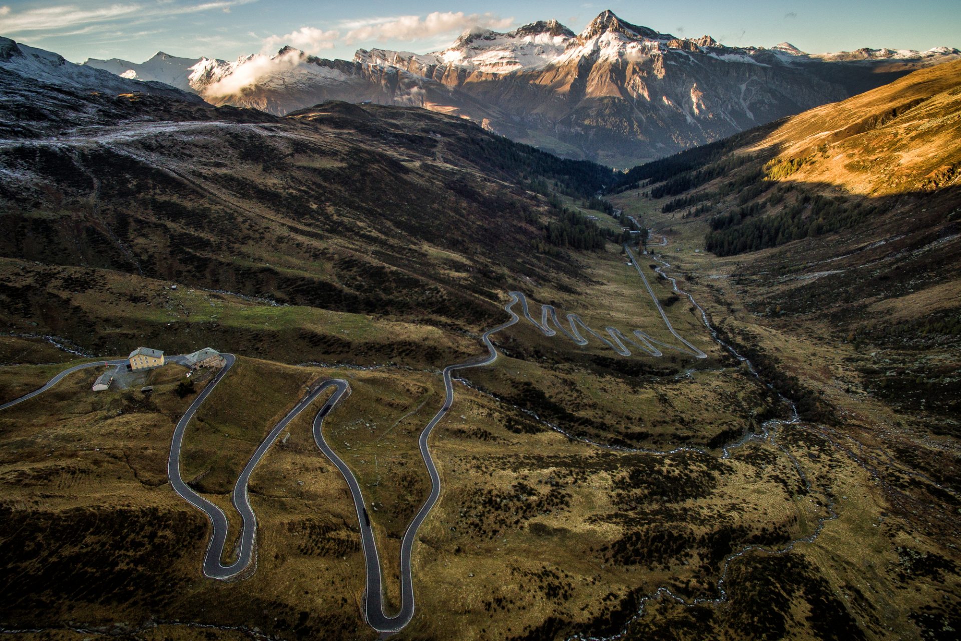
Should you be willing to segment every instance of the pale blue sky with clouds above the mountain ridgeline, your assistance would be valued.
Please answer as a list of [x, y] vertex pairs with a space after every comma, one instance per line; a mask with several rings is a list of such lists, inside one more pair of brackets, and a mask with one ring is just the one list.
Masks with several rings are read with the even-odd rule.
[[361, 47], [433, 51], [477, 24], [506, 30], [554, 17], [579, 32], [604, 9], [660, 32], [709, 34], [732, 46], [786, 40], [811, 53], [863, 46], [961, 48], [958, 0], [0, 0], [0, 35], [74, 62], [142, 62], [159, 50], [233, 60], [283, 44], [350, 59]]

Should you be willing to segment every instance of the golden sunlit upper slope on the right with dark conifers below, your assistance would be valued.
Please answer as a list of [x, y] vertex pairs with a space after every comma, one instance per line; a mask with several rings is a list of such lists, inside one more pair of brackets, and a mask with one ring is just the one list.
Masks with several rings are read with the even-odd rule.
[[958, 111], [961, 62], [950, 62], [636, 167], [619, 188], [709, 219], [704, 245], [720, 256], [876, 225], [906, 198], [948, 217], [961, 185]]

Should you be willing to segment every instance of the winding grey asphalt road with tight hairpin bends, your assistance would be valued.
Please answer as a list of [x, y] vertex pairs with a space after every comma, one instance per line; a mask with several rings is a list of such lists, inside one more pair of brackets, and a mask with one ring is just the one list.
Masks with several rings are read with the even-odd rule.
[[[566, 315], [569, 329], [565, 329], [557, 318], [556, 309], [551, 305], [541, 306], [541, 319], [540, 322], [537, 322], [530, 315], [527, 297], [519, 291], [510, 292], [510, 300], [507, 302], [504, 308], [505, 311], [510, 314], [510, 320], [493, 329], [487, 330], [481, 336], [481, 341], [487, 348], [487, 355], [485, 357], [475, 358], [465, 362], [456, 363], [454, 365], [448, 365], [444, 368], [444, 405], [437, 410], [436, 414], [433, 415], [431, 421], [427, 424], [424, 430], [421, 431], [418, 438], [418, 447], [420, 449], [421, 456], [424, 459], [424, 465], [427, 467], [428, 473], [431, 477], [431, 493], [424, 504], [421, 505], [421, 508], [418, 510], [413, 520], [407, 526], [404, 538], [401, 541], [401, 606], [400, 610], [393, 615], [387, 614], [383, 609], [383, 579], [381, 561], [380, 556], [378, 555], [374, 530], [371, 527], [369, 514], [367, 513], [363, 493], [360, 489], [359, 483], [357, 482], [357, 477], [355, 477], [350, 467], [343, 461], [343, 459], [340, 458], [340, 456], [337, 456], [337, 454], [324, 439], [322, 429], [324, 419], [343, 398], [350, 394], [351, 391], [350, 384], [343, 379], [331, 379], [315, 385], [308, 392], [307, 396], [301, 399], [297, 405], [293, 407], [276, 426], [274, 426], [274, 428], [260, 443], [258, 449], [254, 452], [254, 455], [251, 456], [250, 460], [247, 461], [247, 464], [241, 471], [240, 476], [234, 483], [234, 490], [232, 492], [232, 502], [234, 504], [234, 508], [236, 508], [242, 520], [240, 535], [236, 544], [235, 559], [228, 564], [223, 563], [222, 559], [224, 557], [225, 547], [227, 545], [227, 536], [230, 530], [227, 516], [220, 507], [202, 497], [184, 481], [184, 478], [181, 474], [181, 453], [187, 425], [193, 419], [197, 409], [203, 405], [209, 394], [216, 388], [217, 384], [224, 379], [227, 373], [234, 366], [234, 355], [224, 354], [223, 356], [226, 361], [224, 367], [214, 375], [213, 379], [211, 379], [211, 381], [197, 396], [193, 403], [190, 404], [190, 407], [187, 408], [185, 414], [181, 417], [180, 421], [178, 421], [171, 438], [170, 456], [167, 460], [167, 475], [174, 491], [184, 498], [185, 501], [187, 501], [190, 505], [194, 505], [207, 514], [211, 524], [212, 533], [203, 562], [204, 575], [211, 579], [232, 579], [251, 566], [251, 563], [256, 555], [257, 516], [254, 513], [253, 507], [250, 505], [250, 497], [248, 493], [250, 478], [260, 460], [274, 444], [278, 436], [280, 436], [281, 432], [284, 430], [284, 428], [286, 428], [290, 421], [307, 409], [323, 392], [333, 387], [333, 395], [318, 410], [314, 418], [313, 437], [317, 447], [321, 450], [321, 452], [330, 458], [337, 469], [340, 470], [340, 473], [344, 477], [344, 481], [347, 482], [348, 488], [350, 489], [352, 498], [354, 500], [354, 505], [357, 510], [357, 523], [360, 530], [361, 546], [364, 552], [367, 583], [363, 614], [367, 620], [367, 623], [373, 629], [376, 629], [382, 633], [397, 632], [398, 630], [407, 626], [413, 617], [415, 610], [413, 578], [411, 572], [411, 556], [413, 552], [414, 540], [417, 538], [417, 532], [424, 523], [424, 520], [427, 518], [428, 514], [431, 512], [433, 505], [435, 505], [437, 500], [440, 498], [440, 475], [437, 473], [437, 468], [434, 465], [433, 458], [431, 457], [431, 451], [428, 447], [431, 431], [433, 431], [437, 423], [439, 423], [440, 420], [447, 415], [448, 411], [450, 411], [454, 404], [454, 382], [452, 378], [453, 372], [470, 367], [482, 367], [485, 365], [490, 365], [497, 359], [498, 352], [494, 347], [494, 343], [491, 341], [491, 336], [493, 336], [495, 333], [504, 331], [506, 328], [514, 325], [520, 320], [520, 316], [516, 311], [514, 311], [515, 305], [521, 305], [524, 317], [527, 318], [530, 323], [534, 325], [534, 327], [540, 330], [541, 333], [544, 333], [544, 335], [554, 336], [557, 333], [556, 330], [550, 327], [550, 321], [554, 324], [554, 327], [557, 328], [557, 330], [578, 345], [588, 344], [588, 340], [583, 336], [583, 334], [580, 333], [582, 330], [584, 333], [590, 334], [602, 341], [617, 354], [624, 357], [628, 357], [631, 354], [628, 350], [627, 344], [632, 345], [635, 348], [654, 357], [663, 356], [663, 353], [655, 346], [659, 346], [664, 349], [676, 350], [682, 354], [687, 354], [692, 357], [706, 357], [706, 355], [700, 349], [689, 343], [674, 329], [667, 317], [667, 314], [661, 307], [660, 302], [654, 294], [653, 287], [641, 269], [641, 266], [637, 261], [637, 257], [633, 254], [633, 252], [630, 251], [627, 245], [625, 245], [625, 251], [627, 252], [631, 263], [637, 270], [637, 273], [644, 281], [648, 293], [653, 300], [654, 306], [660, 313], [665, 326], [667, 327], [668, 331], [672, 333], [672, 335], [674, 335], [678, 341], [680, 341], [682, 346], [664, 343], [653, 338], [647, 333], [641, 332], [640, 330], [634, 330], [632, 332], [634, 338], [630, 338], [617, 328], [609, 326], [604, 328], [609, 336], [608, 339], [602, 334], [591, 329], [586, 323], [584, 323], [578, 314], [574, 313], [568, 313]], [[168, 361], [182, 363], [184, 361], [184, 357], [170, 357], [168, 358]], [[68, 376], [73, 372], [86, 369], [88, 367], [95, 367], [97, 365], [121, 365], [126, 362], [126, 359], [118, 359], [75, 365], [64, 370], [36, 391], [0, 406], [0, 409], [12, 407], [13, 405], [41, 394], [55, 385], [57, 382], [60, 382], [65, 376]]]

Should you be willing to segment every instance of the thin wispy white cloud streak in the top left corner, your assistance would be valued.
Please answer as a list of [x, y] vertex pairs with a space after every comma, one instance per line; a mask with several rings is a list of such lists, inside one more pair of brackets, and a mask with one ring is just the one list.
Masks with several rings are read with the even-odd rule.
[[219, 0], [199, 5], [181, 5], [171, 2], [157, 5], [113, 4], [92, 9], [77, 5], [57, 5], [40, 9], [12, 12], [10, 7], [0, 8], [0, 33], [13, 34], [30, 31], [47, 31], [76, 27], [82, 24], [109, 22], [111, 20], [162, 18], [185, 13], [207, 12], [214, 9], [230, 9], [257, 0]]

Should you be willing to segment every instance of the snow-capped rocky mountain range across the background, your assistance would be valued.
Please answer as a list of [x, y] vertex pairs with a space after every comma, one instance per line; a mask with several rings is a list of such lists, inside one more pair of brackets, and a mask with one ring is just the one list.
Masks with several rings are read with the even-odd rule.
[[[89, 61], [129, 77], [169, 78], [171, 62]], [[884, 85], [920, 66], [957, 59], [863, 49], [810, 56], [679, 38], [603, 12], [575, 34], [556, 20], [505, 34], [474, 30], [431, 54], [358, 50], [353, 62], [284, 47], [236, 62], [170, 59], [213, 104], [283, 114], [336, 99], [410, 105], [464, 116], [491, 131], [572, 158], [629, 166]]]

